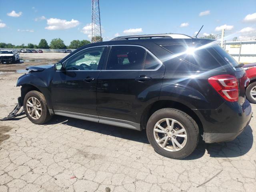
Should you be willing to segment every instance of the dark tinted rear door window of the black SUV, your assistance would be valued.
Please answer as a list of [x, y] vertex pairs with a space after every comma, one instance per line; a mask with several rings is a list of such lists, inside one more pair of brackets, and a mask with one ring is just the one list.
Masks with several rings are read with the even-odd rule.
[[142, 70], [145, 54], [137, 46], [112, 46], [106, 70]]

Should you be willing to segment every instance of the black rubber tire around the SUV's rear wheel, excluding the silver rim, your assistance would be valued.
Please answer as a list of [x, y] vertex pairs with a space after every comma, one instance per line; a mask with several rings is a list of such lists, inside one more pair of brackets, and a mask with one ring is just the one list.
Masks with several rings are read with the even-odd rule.
[[[187, 141], [182, 149], [171, 152], [160, 147], [156, 142], [154, 138], [154, 126], [159, 120], [164, 118], [172, 118], [177, 120], [185, 128], [187, 133]], [[148, 141], [154, 150], [162, 156], [173, 159], [182, 159], [189, 156], [195, 150], [199, 140], [199, 128], [194, 119], [192, 119], [185, 112], [173, 108], [163, 108], [154, 112], [148, 120], [146, 132]]]

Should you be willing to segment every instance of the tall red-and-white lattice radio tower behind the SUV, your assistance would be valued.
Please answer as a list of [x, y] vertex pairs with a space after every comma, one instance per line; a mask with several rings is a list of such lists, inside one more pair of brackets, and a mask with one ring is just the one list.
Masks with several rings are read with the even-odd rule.
[[102, 41], [99, 0], [92, 0], [92, 43]]

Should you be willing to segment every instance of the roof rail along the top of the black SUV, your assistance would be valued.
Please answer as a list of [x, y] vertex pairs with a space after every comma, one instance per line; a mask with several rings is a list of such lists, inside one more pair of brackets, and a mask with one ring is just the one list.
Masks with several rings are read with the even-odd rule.
[[129, 39], [143, 39], [143, 38], [171, 38], [171, 39], [188, 39], [192, 38], [188, 35], [184, 34], [152, 34], [152, 35], [131, 35], [131, 36], [120, 36], [111, 39], [110, 41], [118, 41], [118, 40], [129, 40]]

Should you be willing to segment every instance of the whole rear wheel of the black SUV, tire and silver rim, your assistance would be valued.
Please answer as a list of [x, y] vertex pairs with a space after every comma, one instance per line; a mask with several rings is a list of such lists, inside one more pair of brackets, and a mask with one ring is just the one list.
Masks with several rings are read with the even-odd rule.
[[173, 108], [154, 112], [148, 120], [146, 132], [158, 154], [174, 159], [189, 156], [199, 140], [199, 128], [194, 119]]

